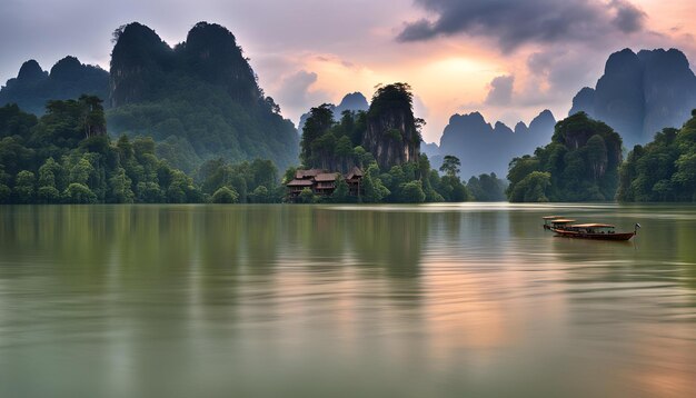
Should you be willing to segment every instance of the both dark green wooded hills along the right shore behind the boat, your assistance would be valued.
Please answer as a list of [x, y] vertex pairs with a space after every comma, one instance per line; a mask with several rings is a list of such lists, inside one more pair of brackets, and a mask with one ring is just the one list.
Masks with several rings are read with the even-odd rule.
[[622, 162], [622, 139], [578, 112], [556, 125], [551, 143], [510, 162], [510, 201], [696, 201], [696, 110]]

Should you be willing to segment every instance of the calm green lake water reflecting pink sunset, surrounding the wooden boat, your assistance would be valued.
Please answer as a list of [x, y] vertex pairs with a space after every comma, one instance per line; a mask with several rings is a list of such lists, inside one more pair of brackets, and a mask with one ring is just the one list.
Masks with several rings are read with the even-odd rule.
[[231, 396], [696, 396], [696, 207], [0, 207], [0, 397]]

